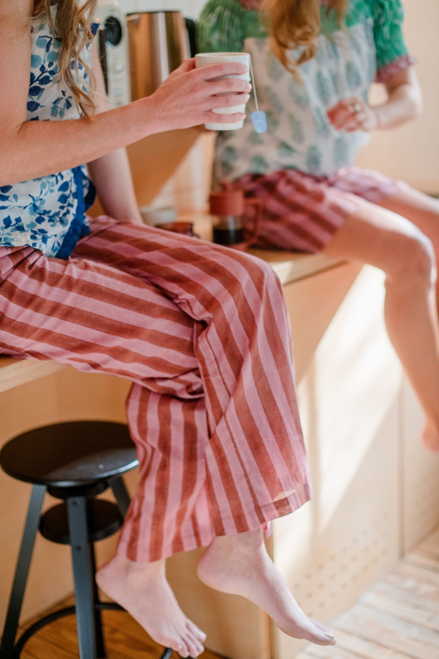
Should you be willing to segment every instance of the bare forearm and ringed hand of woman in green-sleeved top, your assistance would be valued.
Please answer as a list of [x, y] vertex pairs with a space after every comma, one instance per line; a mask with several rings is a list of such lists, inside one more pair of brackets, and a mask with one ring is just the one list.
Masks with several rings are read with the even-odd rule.
[[388, 98], [371, 107], [359, 98], [347, 98], [328, 111], [337, 130], [384, 130], [416, 119], [422, 111], [422, 93], [414, 69], [402, 71], [386, 82]]

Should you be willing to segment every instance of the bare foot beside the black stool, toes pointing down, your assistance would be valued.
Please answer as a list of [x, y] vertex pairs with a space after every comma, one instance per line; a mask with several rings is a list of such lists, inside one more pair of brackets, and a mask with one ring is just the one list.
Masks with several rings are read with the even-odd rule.
[[182, 657], [197, 657], [203, 652], [206, 635], [178, 606], [166, 578], [165, 561], [134, 563], [115, 556], [99, 569], [96, 581], [156, 643]]

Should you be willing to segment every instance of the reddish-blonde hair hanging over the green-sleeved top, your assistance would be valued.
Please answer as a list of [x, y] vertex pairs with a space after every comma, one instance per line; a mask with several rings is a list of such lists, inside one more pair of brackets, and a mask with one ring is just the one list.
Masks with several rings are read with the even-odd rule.
[[[288, 71], [300, 79], [297, 67], [314, 57], [321, 20], [321, 0], [263, 0], [261, 11], [267, 17], [271, 33], [271, 48]], [[326, 0], [327, 11], [333, 9], [340, 26], [349, 0]], [[300, 47], [296, 60], [288, 51]]]

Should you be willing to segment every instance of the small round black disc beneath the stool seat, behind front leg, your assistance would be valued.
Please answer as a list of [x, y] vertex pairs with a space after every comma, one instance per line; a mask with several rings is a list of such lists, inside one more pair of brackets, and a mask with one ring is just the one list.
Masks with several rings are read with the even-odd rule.
[[[91, 499], [87, 505], [87, 528], [90, 542], [105, 540], [116, 533], [124, 520], [118, 507], [105, 499]], [[70, 544], [66, 503], [49, 508], [39, 521], [39, 532], [51, 542]]]

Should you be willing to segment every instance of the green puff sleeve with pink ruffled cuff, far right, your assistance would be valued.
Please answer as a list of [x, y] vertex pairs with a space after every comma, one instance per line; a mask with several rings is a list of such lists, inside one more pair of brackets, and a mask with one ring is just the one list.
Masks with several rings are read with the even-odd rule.
[[415, 64], [405, 45], [401, 0], [372, 0], [373, 31], [376, 48], [376, 81], [386, 82], [392, 75]]

